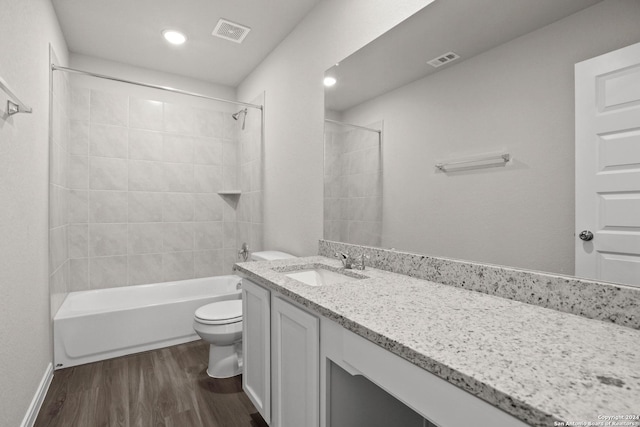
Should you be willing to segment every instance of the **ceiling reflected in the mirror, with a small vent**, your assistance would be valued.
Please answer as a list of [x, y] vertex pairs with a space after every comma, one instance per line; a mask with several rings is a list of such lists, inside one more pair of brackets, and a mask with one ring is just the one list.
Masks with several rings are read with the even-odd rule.
[[[471, 58], [602, 0], [436, 0], [332, 67], [325, 106], [344, 111]], [[453, 51], [460, 59], [433, 68]], [[544, 60], [544, 58], [540, 58]]]

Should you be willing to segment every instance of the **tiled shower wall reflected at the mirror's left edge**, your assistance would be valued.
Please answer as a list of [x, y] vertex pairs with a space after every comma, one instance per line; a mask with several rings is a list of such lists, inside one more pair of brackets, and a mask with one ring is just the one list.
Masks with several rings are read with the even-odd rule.
[[[382, 123], [371, 127], [382, 129]], [[324, 157], [325, 239], [379, 246], [382, 234], [379, 134], [328, 125]]]

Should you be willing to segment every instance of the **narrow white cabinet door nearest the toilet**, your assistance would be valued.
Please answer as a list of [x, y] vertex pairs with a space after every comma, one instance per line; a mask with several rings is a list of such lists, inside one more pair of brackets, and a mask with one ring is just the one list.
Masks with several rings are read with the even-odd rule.
[[262, 418], [271, 422], [271, 313], [268, 290], [242, 281], [242, 388]]

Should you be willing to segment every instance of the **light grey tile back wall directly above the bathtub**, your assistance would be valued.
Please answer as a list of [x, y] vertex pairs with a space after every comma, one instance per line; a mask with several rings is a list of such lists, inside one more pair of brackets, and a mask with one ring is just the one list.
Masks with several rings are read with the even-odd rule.
[[70, 290], [231, 272], [239, 124], [213, 104], [71, 88]]

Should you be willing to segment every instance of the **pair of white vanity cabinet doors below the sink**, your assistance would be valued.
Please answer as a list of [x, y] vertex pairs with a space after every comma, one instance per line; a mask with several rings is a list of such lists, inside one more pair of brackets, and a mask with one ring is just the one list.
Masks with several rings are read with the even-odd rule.
[[242, 281], [242, 388], [271, 427], [318, 427], [320, 321]]

